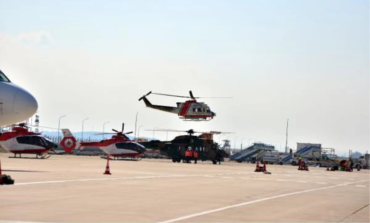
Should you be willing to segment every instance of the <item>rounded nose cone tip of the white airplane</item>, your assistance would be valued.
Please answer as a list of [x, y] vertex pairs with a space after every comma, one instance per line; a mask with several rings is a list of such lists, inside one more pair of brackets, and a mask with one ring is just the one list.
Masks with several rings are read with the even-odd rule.
[[37, 101], [24, 89], [20, 89], [14, 96], [14, 113], [17, 119], [25, 120], [37, 111]]

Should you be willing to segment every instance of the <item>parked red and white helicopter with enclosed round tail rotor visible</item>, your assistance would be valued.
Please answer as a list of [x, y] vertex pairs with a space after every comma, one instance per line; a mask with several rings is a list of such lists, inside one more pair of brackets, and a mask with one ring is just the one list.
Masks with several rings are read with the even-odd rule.
[[[140, 160], [140, 155], [145, 153], [146, 149], [144, 146], [137, 142], [129, 139], [126, 134], [132, 132], [123, 133], [124, 124], [122, 124], [122, 131], [118, 132], [112, 129], [114, 133], [104, 134], [115, 134], [110, 139], [104, 139], [100, 142], [77, 142], [75, 137], [69, 129], [62, 129], [63, 139], [60, 145], [64, 148], [66, 153], [70, 153], [73, 149], [83, 149], [84, 147], [99, 147], [103, 152], [114, 158], [132, 158], [134, 160]], [[103, 133], [99, 133], [103, 134]]]

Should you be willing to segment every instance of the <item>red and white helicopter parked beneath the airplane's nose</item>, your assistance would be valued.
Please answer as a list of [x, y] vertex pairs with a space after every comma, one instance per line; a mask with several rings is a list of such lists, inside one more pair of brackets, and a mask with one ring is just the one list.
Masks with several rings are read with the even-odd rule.
[[14, 153], [14, 158], [21, 154], [36, 154], [36, 158], [47, 159], [48, 154], [58, 147], [41, 133], [28, 131], [25, 123], [13, 125], [11, 131], [0, 133], [0, 146]]

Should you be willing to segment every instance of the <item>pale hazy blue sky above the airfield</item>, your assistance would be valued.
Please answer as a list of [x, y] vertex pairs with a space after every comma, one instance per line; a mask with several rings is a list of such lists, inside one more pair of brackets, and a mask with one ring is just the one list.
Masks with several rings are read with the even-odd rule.
[[[232, 145], [370, 152], [370, 1], [3, 1], [0, 69], [40, 125], [236, 132]], [[206, 99], [209, 122], [144, 107], [148, 91]], [[182, 99], [150, 95], [154, 104]], [[168, 133], [168, 139], [178, 133]], [[155, 137], [165, 139], [165, 132]], [[215, 139], [218, 141], [219, 136]], [[233, 147], [233, 146], [232, 146]]]

